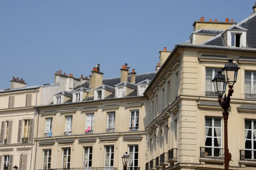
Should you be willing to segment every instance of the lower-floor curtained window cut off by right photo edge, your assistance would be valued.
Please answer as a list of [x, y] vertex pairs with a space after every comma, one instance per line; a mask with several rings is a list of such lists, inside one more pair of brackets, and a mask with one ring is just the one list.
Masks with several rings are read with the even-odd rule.
[[245, 159], [256, 159], [256, 121], [245, 120]]

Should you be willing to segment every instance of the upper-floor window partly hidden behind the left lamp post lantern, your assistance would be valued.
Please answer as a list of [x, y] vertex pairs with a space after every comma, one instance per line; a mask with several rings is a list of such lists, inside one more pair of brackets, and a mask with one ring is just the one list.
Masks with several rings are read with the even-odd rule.
[[[221, 69], [218, 68], [206, 68], [205, 73], [205, 94], [206, 96], [215, 96], [215, 90], [213, 86], [212, 79], [214, 79], [215, 75], [218, 74], [218, 71], [221, 71]], [[212, 92], [212, 93], [210, 93]]]

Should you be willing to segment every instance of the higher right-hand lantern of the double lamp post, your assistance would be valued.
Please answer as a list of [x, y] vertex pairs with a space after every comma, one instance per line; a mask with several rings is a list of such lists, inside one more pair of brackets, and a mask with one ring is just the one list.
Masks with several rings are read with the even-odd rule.
[[233, 59], [229, 59], [221, 70], [225, 76], [225, 81], [229, 86], [233, 86], [236, 83], [237, 72], [240, 69], [236, 63], [233, 63]]

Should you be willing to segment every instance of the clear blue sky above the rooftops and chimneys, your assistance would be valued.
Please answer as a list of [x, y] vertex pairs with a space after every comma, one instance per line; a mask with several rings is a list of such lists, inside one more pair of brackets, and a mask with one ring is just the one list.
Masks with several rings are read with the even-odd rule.
[[240, 22], [255, 0], [0, 0], [0, 89], [12, 76], [30, 85], [54, 82], [62, 70], [104, 78], [124, 63], [153, 72], [159, 50], [189, 40], [195, 20]]

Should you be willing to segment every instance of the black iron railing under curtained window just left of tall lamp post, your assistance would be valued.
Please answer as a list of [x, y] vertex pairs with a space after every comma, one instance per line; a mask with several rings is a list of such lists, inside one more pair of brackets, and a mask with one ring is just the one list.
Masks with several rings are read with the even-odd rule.
[[215, 147], [200, 147], [200, 158], [224, 159], [224, 149]]

